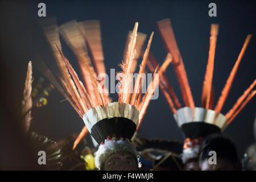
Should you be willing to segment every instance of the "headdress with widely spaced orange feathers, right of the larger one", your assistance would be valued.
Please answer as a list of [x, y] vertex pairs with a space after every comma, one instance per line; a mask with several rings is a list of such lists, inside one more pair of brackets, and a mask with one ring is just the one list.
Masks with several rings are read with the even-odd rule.
[[[187, 73], [185, 72], [183, 60], [177, 47], [170, 19], [161, 20], [160, 22], [158, 22], [158, 27], [160, 34], [162, 35], [163, 41], [166, 44], [167, 51], [172, 53], [172, 56], [174, 57], [172, 64], [174, 65], [177, 80], [179, 81], [185, 107], [181, 107], [180, 102], [177, 99], [176, 94], [174, 93], [174, 89], [172, 89], [166, 76], [163, 76], [159, 85], [164, 93], [164, 96], [166, 97], [166, 100], [170, 104], [177, 125], [181, 128], [185, 137], [187, 138], [187, 142], [185, 142], [184, 144], [184, 151], [187, 150], [188, 158], [191, 158], [192, 156], [196, 156], [192, 155], [197, 153], [197, 151], [193, 151], [193, 148], [195, 149], [199, 146], [200, 137], [205, 137], [210, 133], [223, 131], [226, 126], [228, 126], [236, 117], [236, 115], [243, 109], [247, 102], [249, 102], [251, 98], [253, 98], [256, 94], [256, 90], [253, 90], [256, 84], [256, 80], [254, 80], [254, 82], [249, 86], [247, 90], [245, 90], [242, 96], [238, 98], [236, 104], [232, 107], [232, 109], [230, 109], [230, 111], [228, 111], [228, 113], [226, 114], [221, 113], [222, 106], [224, 105], [225, 100], [228, 97], [228, 93], [233, 84], [237, 69], [241, 63], [246, 47], [251, 39], [251, 35], [247, 35], [240, 55], [238, 56], [238, 59], [236, 61], [236, 64], [230, 72], [229, 78], [226, 81], [221, 96], [218, 99], [217, 105], [213, 109], [214, 94], [212, 89], [212, 79], [214, 68], [214, 55], [218, 35], [218, 24], [212, 24], [210, 29], [209, 56], [205, 79], [203, 83], [201, 107], [195, 107], [195, 104], [193, 102]], [[155, 65], [156, 61], [154, 59], [154, 56], [149, 56], [148, 67], [151, 67], [151, 69], [153, 69]], [[183, 154], [185, 153], [184, 151]], [[183, 159], [184, 161], [186, 160], [185, 155]]]

